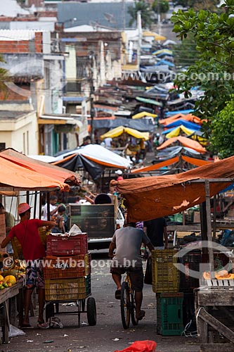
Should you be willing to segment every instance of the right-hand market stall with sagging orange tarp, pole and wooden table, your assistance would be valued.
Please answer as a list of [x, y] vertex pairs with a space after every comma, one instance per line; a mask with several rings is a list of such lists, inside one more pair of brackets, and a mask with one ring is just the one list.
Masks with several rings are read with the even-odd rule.
[[[159, 218], [201, 205], [201, 250], [209, 258], [210, 275], [210, 279], [195, 290], [202, 352], [234, 351], [234, 281], [229, 275], [228, 279], [214, 276], [210, 207], [210, 198], [233, 183], [233, 161], [234, 156], [178, 175], [111, 182], [126, 199], [130, 221]], [[219, 338], [219, 343], [214, 337]]]

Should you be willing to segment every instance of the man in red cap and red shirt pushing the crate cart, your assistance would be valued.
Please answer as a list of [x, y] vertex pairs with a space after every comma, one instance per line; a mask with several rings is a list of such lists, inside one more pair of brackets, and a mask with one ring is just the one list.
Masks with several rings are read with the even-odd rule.
[[27, 260], [26, 269], [26, 290], [25, 290], [25, 318], [22, 322], [22, 328], [29, 328], [29, 311], [32, 291], [34, 287], [38, 288], [39, 300], [39, 318], [38, 327], [47, 328], [48, 324], [44, 322], [44, 276], [42, 259], [46, 256], [46, 250], [41, 242], [39, 236], [39, 227], [48, 226], [54, 227], [55, 221], [44, 221], [39, 219], [30, 220], [31, 207], [27, 203], [20, 203], [18, 206], [18, 214], [20, 215], [20, 222], [15, 225], [4, 241], [1, 242], [1, 248], [16, 237], [22, 246], [22, 254]]

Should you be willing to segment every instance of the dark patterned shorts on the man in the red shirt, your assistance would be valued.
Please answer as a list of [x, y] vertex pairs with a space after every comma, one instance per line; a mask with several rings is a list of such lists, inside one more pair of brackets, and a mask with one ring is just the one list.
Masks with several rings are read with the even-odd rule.
[[29, 260], [26, 268], [26, 287], [27, 289], [32, 287], [45, 288], [42, 260]]

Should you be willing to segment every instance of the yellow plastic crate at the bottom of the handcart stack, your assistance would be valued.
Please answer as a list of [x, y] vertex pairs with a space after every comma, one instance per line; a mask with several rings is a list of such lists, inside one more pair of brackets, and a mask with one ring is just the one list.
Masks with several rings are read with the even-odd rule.
[[46, 301], [76, 301], [91, 294], [91, 275], [77, 279], [45, 279]]

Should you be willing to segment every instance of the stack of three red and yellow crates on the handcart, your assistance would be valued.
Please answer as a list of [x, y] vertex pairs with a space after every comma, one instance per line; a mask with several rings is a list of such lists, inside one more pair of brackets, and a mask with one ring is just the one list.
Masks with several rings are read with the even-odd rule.
[[76, 301], [91, 294], [87, 234], [47, 236], [44, 267], [46, 301]]

